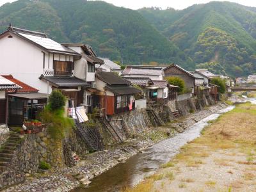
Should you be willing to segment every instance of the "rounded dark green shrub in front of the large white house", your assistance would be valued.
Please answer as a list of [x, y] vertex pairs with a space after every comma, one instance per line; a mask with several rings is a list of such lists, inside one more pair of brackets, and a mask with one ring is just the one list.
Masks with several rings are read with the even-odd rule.
[[53, 90], [49, 97], [49, 106], [52, 110], [62, 109], [67, 98], [58, 90]]

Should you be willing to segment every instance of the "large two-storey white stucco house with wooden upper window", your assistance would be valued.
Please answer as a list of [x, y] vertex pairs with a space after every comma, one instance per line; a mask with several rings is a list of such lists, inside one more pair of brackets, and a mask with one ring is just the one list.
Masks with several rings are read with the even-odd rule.
[[95, 64], [104, 63], [89, 45], [59, 44], [44, 33], [13, 26], [0, 35], [0, 58], [1, 74], [12, 74], [41, 93], [61, 90], [70, 98], [69, 107], [91, 105]]

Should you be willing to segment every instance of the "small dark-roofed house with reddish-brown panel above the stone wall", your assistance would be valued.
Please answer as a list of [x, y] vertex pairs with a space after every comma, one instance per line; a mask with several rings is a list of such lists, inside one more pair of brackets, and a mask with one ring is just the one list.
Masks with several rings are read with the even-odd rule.
[[104, 109], [104, 115], [114, 115], [135, 109], [135, 94], [141, 90], [115, 72], [97, 72], [93, 106]]

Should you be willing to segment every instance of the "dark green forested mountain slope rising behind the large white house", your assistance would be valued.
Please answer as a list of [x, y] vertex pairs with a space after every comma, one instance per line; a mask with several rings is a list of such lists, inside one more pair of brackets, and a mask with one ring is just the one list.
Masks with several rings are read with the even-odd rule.
[[58, 42], [92, 45], [99, 56], [124, 63], [186, 62], [186, 56], [140, 13], [103, 1], [19, 0], [0, 7], [0, 31], [12, 23]]

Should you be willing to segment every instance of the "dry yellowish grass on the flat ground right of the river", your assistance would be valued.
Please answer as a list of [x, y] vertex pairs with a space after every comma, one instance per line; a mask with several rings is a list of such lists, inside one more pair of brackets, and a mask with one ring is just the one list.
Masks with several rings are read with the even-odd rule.
[[[145, 182], [142, 182], [140, 185], [136, 186], [134, 190], [131, 191], [139, 191], [138, 189], [141, 189], [140, 191], [142, 192], [152, 191], [155, 185], [154, 180], [158, 180], [159, 178], [162, 180], [168, 179], [168, 181], [164, 180], [165, 184], [172, 188], [170, 185], [173, 182], [176, 183], [177, 181], [175, 180], [173, 172], [166, 172], [166, 170], [170, 170], [170, 168], [173, 167], [172, 170], [175, 171], [175, 175], [179, 177], [180, 172], [184, 175], [184, 170], [198, 170], [196, 167], [204, 164], [204, 161], [209, 161], [209, 159], [207, 160], [204, 158], [211, 158], [211, 156], [214, 157], [214, 154], [216, 153], [226, 154], [227, 156], [237, 156], [239, 157], [239, 160], [245, 158], [244, 161], [232, 160], [233, 158], [231, 157], [228, 157], [227, 159], [212, 159], [214, 164], [217, 164], [220, 167], [232, 166], [232, 170], [237, 170], [237, 166], [234, 166], [236, 163], [248, 166], [242, 170], [243, 175], [241, 175], [241, 178], [239, 180], [233, 180], [230, 182], [228, 188], [230, 186], [230, 189], [232, 188], [233, 191], [234, 188], [243, 188], [246, 183], [253, 182], [253, 179], [256, 176], [253, 174], [253, 171], [256, 170], [256, 166], [254, 166], [256, 164], [255, 115], [256, 105], [248, 103], [239, 104], [234, 110], [221, 115], [218, 120], [212, 122], [211, 125], [204, 129], [204, 134], [200, 136], [200, 138], [196, 138], [195, 140], [189, 142], [187, 145], [184, 145], [180, 149], [180, 154], [177, 154], [177, 156], [175, 156], [172, 161], [161, 166], [162, 169], [160, 170], [160, 173], [164, 173], [164, 176], [157, 174], [156, 176], [147, 179]], [[230, 164], [230, 162], [232, 162], [232, 164]], [[235, 175], [236, 172], [233, 172], [232, 170], [226, 170], [226, 172], [230, 175]], [[216, 182], [219, 184], [219, 180], [214, 180], [208, 180], [202, 184], [205, 184], [205, 186], [209, 188], [215, 188]], [[186, 187], [186, 183], [189, 182], [194, 185], [200, 182], [193, 179], [179, 179], [179, 181], [179, 188]], [[161, 188], [161, 185], [162, 187], [164, 186], [163, 182], [162, 184], [159, 184], [159, 188]], [[156, 186], [157, 185], [155, 185], [155, 187]], [[225, 188], [227, 188], [227, 186], [225, 186]], [[196, 191], [200, 191], [201, 189], [202, 188], [198, 186]], [[193, 189], [191, 189], [191, 191], [193, 191]], [[204, 191], [204, 189], [202, 189], [202, 191]]]

